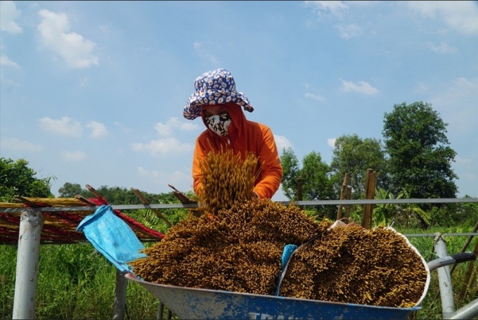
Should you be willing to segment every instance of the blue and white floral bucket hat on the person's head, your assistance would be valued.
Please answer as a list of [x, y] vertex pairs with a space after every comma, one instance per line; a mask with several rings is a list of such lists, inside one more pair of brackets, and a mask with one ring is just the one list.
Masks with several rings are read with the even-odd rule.
[[254, 111], [249, 99], [235, 90], [234, 78], [228, 70], [217, 69], [203, 73], [194, 80], [194, 88], [195, 92], [191, 94], [183, 110], [183, 116], [188, 120], [200, 116], [202, 105], [234, 102], [250, 113]]

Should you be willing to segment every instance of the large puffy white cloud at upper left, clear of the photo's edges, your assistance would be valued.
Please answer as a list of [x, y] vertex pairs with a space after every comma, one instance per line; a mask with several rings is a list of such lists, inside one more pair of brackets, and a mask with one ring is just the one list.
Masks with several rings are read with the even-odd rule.
[[81, 34], [70, 32], [70, 23], [65, 13], [48, 10], [39, 11], [41, 23], [38, 30], [41, 43], [58, 53], [70, 68], [89, 68], [99, 65], [98, 57], [93, 55], [96, 43], [85, 39]]

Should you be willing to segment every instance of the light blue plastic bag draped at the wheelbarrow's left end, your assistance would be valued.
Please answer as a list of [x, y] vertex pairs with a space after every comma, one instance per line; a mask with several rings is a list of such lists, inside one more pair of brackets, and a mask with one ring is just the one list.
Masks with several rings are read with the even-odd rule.
[[126, 222], [117, 217], [110, 205], [101, 205], [77, 226], [84, 236], [102, 255], [122, 272], [132, 272], [127, 264], [141, 257], [146, 257], [140, 250], [143, 243]]

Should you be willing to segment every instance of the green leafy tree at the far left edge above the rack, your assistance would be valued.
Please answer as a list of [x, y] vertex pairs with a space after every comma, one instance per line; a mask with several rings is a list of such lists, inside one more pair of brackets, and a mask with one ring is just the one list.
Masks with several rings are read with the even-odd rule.
[[50, 181], [55, 177], [36, 175], [25, 159], [0, 158], [0, 202], [11, 202], [15, 196], [53, 198]]

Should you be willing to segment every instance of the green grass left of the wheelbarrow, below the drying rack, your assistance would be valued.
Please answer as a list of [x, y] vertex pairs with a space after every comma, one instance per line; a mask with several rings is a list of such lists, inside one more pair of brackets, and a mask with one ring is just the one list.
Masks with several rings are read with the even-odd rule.
[[[16, 245], [1, 245], [0, 319], [12, 319]], [[116, 269], [92, 245], [41, 245], [35, 319], [111, 319]], [[159, 302], [129, 282], [129, 319], [155, 319]]]

